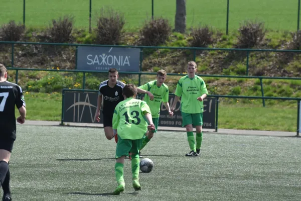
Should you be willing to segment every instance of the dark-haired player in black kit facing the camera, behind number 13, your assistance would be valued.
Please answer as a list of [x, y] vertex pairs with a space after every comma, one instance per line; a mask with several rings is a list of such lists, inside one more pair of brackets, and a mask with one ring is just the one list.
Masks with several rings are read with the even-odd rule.
[[117, 143], [117, 135], [113, 131], [112, 121], [115, 107], [119, 102], [124, 100], [122, 96], [122, 89], [125, 84], [118, 80], [118, 71], [115, 68], [109, 70], [109, 79], [103, 81], [99, 85], [99, 92], [97, 98], [97, 109], [94, 116], [95, 121], [99, 122], [100, 108], [103, 104], [103, 128], [105, 137], [111, 140], [115, 137]]

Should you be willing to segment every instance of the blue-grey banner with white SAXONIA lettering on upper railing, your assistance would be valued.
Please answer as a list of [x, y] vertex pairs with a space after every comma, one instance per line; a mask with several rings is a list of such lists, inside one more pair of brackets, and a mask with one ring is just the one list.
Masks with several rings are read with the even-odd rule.
[[117, 47], [77, 48], [77, 70], [109, 70], [139, 72], [140, 49]]

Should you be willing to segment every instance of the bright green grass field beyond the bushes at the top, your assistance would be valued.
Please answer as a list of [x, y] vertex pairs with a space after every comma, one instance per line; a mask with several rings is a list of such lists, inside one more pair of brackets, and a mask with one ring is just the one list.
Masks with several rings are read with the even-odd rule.
[[[268, 29], [290, 30], [297, 29], [297, 1], [296, 0], [230, 0], [229, 1], [229, 29], [239, 27], [239, 23], [247, 19], [264, 21]], [[152, 16], [151, 0], [92, 0], [92, 24], [95, 25], [96, 15], [103, 6], [111, 6], [124, 13], [125, 27], [137, 30], [145, 19]], [[10, 20], [23, 22], [23, 1], [10, 0], [1, 2], [0, 24]], [[226, 29], [226, 0], [189, 0], [187, 1], [187, 27], [200, 23], [215, 28]], [[154, 15], [163, 16], [174, 25], [176, 1], [154, 0]], [[73, 15], [75, 25], [88, 28], [89, 1], [82, 0], [53, 0], [26, 1], [26, 25], [31, 27], [45, 27], [52, 19], [63, 15]]]

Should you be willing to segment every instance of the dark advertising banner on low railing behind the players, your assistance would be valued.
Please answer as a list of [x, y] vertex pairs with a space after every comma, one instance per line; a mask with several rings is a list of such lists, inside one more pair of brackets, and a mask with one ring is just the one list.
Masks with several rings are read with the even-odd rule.
[[[97, 108], [97, 92], [65, 91], [64, 94], [64, 122], [98, 123], [94, 120]], [[141, 97], [143, 99], [143, 97]], [[169, 96], [172, 105], [174, 95]], [[215, 106], [216, 99], [208, 97], [204, 100], [204, 125], [203, 128], [215, 128]], [[103, 123], [102, 111], [100, 112], [100, 124]], [[180, 111], [180, 100], [177, 103], [174, 116], [170, 117], [164, 105], [161, 105], [159, 126], [181, 127], [182, 116]]]

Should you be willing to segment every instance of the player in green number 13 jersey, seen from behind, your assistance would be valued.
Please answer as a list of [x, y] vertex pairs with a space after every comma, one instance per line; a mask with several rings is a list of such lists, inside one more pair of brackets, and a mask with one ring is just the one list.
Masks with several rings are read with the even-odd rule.
[[[116, 146], [115, 177], [118, 186], [113, 194], [124, 191], [123, 164], [124, 157], [131, 152], [132, 184], [135, 190], [140, 190], [139, 184], [139, 149], [142, 137], [147, 131], [155, 129], [152, 114], [143, 100], [135, 99], [137, 88], [133, 84], [126, 84], [122, 89], [124, 100], [120, 102], [114, 111], [113, 129], [117, 129], [118, 142]], [[144, 120], [144, 118], [148, 121]]]

